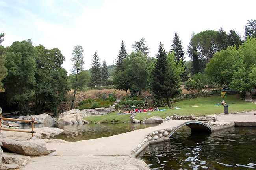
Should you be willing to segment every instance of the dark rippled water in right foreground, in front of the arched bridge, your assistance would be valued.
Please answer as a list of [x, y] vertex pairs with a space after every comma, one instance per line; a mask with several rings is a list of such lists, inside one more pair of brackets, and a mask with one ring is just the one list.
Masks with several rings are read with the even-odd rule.
[[176, 131], [169, 142], [148, 146], [139, 159], [151, 169], [256, 169], [256, 128], [232, 127], [211, 134]]

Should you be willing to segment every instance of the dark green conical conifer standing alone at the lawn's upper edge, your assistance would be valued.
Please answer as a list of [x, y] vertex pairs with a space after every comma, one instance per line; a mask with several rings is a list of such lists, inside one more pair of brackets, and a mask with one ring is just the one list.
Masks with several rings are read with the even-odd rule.
[[174, 55], [167, 56], [160, 42], [156, 63], [152, 71], [151, 91], [155, 98], [165, 98], [170, 106], [169, 98], [180, 93], [180, 73]]

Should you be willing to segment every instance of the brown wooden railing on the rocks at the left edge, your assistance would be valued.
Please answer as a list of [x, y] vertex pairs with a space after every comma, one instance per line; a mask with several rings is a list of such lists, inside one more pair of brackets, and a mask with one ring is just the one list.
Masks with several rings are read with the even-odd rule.
[[[31, 131], [28, 131], [28, 130], [20, 130], [20, 129], [7, 129], [7, 128], [3, 128], [3, 127], [1, 127], [1, 125], [2, 125], [2, 120], [7, 120], [7, 121], [20, 121], [20, 122], [31, 123]], [[3, 130], [3, 131], [26, 132], [26, 133], [31, 133], [31, 137], [33, 137], [33, 136], [34, 136], [34, 133], [36, 133], [36, 132], [34, 131], [34, 123], [38, 123], [37, 121], [35, 121], [34, 118], [32, 118], [32, 120], [22, 120], [22, 119], [4, 118], [4, 117], [2, 117], [2, 114], [0, 114], [0, 132], [1, 132], [1, 130]]]

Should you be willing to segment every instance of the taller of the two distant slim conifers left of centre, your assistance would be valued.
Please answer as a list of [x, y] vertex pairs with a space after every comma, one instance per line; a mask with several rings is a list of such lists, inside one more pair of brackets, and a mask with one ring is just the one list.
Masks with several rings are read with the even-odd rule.
[[101, 70], [100, 70], [100, 57], [98, 56], [97, 52], [93, 54], [92, 60], [92, 69], [91, 69], [91, 87], [96, 87], [101, 84]]

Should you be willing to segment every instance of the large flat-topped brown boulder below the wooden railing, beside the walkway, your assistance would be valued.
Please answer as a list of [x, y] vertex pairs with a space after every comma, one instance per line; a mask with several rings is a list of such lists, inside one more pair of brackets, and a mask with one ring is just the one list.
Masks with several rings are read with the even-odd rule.
[[47, 150], [44, 140], [34, 139], [34, 140], [25, 140], [25, 141], [15, 141], [6, 139], [2, 141], [2, 147], [7, 150], [18, 153], [21, 155], [48, 155], [49, 153], [54, 152], [53, 150]]

